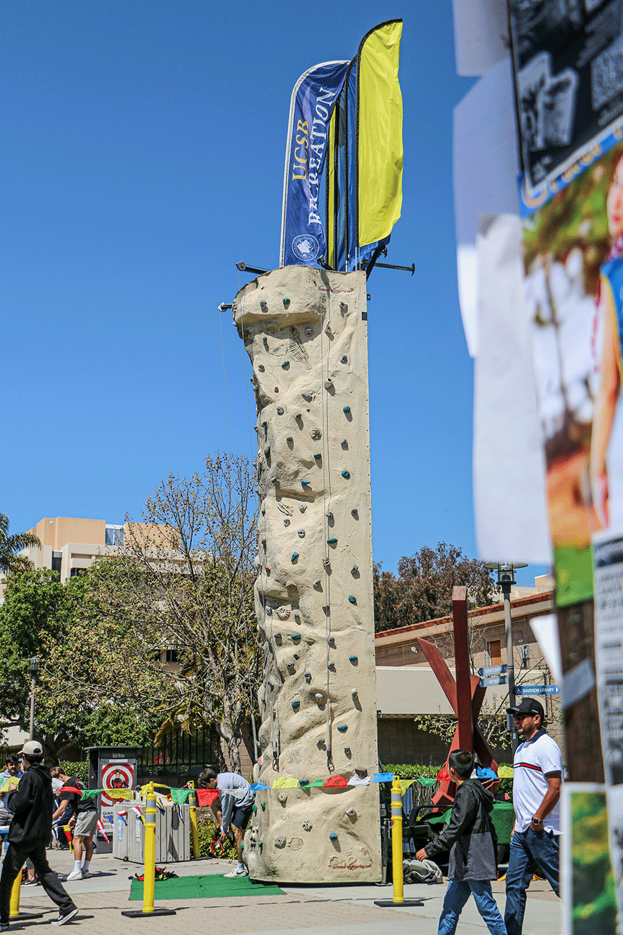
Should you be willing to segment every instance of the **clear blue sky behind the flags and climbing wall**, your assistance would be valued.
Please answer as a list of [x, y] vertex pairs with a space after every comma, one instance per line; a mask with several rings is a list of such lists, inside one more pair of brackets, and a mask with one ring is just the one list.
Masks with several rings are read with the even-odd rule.
[[[400, 16], [404, 204], [388, 259], [416, 274], [369, 282], [375, 560], [393, 570], [438, 540], [475, 554], [451, 174], [452, 108], [471, 80], [455, 73], [450, 0], [3, 5], [12, 531], [46, 515], [138, 518], [170, 471], [229, 449], [217, 306], [249, 279], [236, 261], [278, 265], [292, 86]], [[232, 446], [249, 453], [246, 354], [229, 313], [222, 329]]]

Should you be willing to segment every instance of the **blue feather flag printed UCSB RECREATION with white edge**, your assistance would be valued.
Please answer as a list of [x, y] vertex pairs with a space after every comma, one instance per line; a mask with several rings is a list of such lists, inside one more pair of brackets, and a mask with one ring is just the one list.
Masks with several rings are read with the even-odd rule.
[[326, 256], [320, 220], [320, 178], [327, 153], [329, 121], [342, 90], [348, 62], [314, 65], [296, 82], [290, 101], [283, 180], [280, 266], [312, 264]]

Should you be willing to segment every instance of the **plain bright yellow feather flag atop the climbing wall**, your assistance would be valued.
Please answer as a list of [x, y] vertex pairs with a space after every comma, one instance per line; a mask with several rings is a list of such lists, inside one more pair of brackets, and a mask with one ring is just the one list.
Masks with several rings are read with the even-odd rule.
[[403, 206], [403, 96], [398, 83], [403, 22], [377, 26], [359, 63], [359, 245], [391, 233]]

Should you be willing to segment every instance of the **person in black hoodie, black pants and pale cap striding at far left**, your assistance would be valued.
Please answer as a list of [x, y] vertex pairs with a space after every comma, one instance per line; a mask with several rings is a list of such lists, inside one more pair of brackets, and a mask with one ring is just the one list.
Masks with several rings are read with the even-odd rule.
[[50, 770], [42, 765], [43, 750], [37, 741], [27, 741], [21, 753], [25, 770], [19, 788], [8, 781], [7, 807], [13, 813], [13, 820], [8, 829], [8, 850], [0, 876], [0, 931], [8, 929], [11, 887], [26, 857], [33, 861], [41, 885], [59, 907], [58, 918], [52, 925], [62, 926], [78, 913], [74, 900], [65, 892], [54, 870], [50, 869], [46, 857], [54, 798]]

